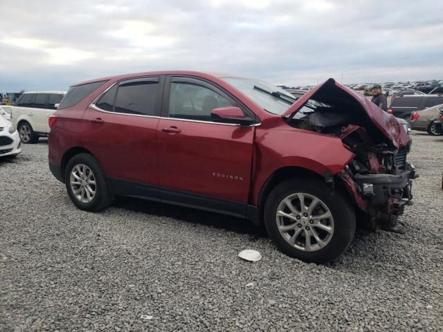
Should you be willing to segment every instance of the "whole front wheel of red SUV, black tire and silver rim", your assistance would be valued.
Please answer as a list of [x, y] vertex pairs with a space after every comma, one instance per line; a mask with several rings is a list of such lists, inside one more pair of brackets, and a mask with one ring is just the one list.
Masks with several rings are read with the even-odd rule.
[[277, 185], [264, 207], [266, 230], [286, 255], [309, 263], [333, 261], [354, 239], [355, 212], [337, 189], [293, 178]]

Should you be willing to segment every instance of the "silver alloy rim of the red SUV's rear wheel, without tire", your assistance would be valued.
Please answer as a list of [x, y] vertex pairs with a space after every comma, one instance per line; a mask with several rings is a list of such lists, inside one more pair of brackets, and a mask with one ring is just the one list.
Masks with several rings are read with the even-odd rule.
[[82, 203], [89, 203], [96, 196], [96, 177], [87, 165], [75, 165], [71, 170], [69, 183], [73, 195]]

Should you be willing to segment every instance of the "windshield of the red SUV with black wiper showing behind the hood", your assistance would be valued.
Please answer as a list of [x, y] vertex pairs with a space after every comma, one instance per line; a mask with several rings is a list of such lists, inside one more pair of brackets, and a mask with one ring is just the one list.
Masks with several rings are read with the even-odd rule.
[[250, 78], [221, 77], [269, 113], [284, 113], [298, 98], [278, 86]]

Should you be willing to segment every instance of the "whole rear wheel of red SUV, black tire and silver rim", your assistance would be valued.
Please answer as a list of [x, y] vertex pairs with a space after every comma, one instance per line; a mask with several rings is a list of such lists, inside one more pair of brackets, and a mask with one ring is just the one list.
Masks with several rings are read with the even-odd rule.
[[71, 201], [80, 210], [100, 211], [112, 202], [105, 172], [90, 154], [77, 154], [69, 160], [64, 183]]

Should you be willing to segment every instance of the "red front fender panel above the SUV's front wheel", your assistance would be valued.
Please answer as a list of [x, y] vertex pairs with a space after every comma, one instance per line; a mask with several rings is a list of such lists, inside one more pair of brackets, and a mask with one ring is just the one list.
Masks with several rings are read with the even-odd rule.
[[[287, 124], [284, 124], [287, 126]], [[253, 165], [252, 204], [259, 203], [268, 179], [283, 167], [298, 167], [325, 177], [338, 174], [354, 154], [343, 147], [340, 138], [300, 129], [257, 128]]]

